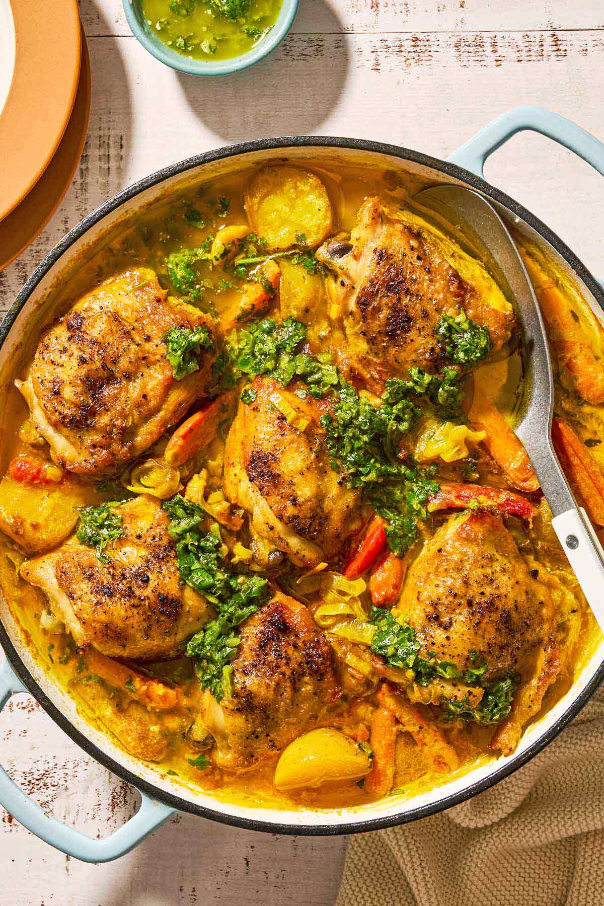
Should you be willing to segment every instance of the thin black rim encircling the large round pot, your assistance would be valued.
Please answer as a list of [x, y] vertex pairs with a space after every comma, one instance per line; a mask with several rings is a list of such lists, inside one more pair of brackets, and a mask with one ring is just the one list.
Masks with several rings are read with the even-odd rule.
[[[81, 236], [88, 232], [89, 229], [91, 229], [91, 226], [97, 224], [103, 217], [123, 205], [126, 201], [129, 201], [130, 198], [135, 198], [141, 192], [145, 191], [148, 188], [157, 186], [159, 183], [165, 181], [168, 178], [177, 176], [178, 174], [184, 173], [189, 169], [195, 169], [200, 165], [210, 163], [215, 160], [236, 157], [250, 153], [252, 151], [287, 151], [288, 149], [292, 148], [333, 148], [368, 151], [370, 153], [382, 154], [402, 161], [411, 161], [412, 163], [419, 164], [429, 169], [434, 169], [440, 173], [446, 174], [447, 176], [459, 179], [461, 182], [465, 183], [465, 185], [478, 189], [488, 198], [492, 198], [495, 202], [503, 205], [503, 207], [505, 207], [511, 214], [513, 214], [515, 217], [519, 217], [525, 224], [531, 226], [532, 229], [535, 230], [535, 232], [539, 233], [540, 236], [542, 236], [542, 238], [545, 239], [546, 242], [548, 242], [559, 253], [559, 255], [561, 255], [566, 260], [572, 270], [588, 287], [590, 293], [597, 300], [600, 307], [604, 310], [604, 292], [602, 291], [602, 288], [599, 286], [595, 278], [590, 274], [590, 271], [587, 269], [587, 267], [583, 265], [577, 255], [575, 255], [570, 250], [569, 246], [562, 242], [559, 236], [553, 233], [548, 226], [542, 223], [542, 221], [538, 217], [535, 217], [530, 211], [523, 207], [523, 205], [520, 205], [517, 201], [515, 201], [513, 198], [510, 198], [510, 196], [506, 195], [500, 189], [494, 188], [494, 186], [491, 186], [483, 178], [477, 177], [469, 170], [458, 167], [456, 164], [450, 163], [449, 161], [430, 157], [429, 155], [423, 154], [419, 151], [401, 148], [397, 145], [388, 145], [378, 141], [363, 139], [343, 139], [331, 136], [293, 135], [283, 136], [281, 138], [275, 139], [261, 139], [241, 142], [235, 145], [228, 145], [225, 148], [205, 151], [191, 158], [181, 160], [175, 164], [170, 165], [169, 167], [157, 170], [155, 173], [150, 174], [148, 177], [139, 179], [138, 182], [134, 183], [132, 186], [129, 186], [129, 188], [123, 189], [121, 192], [118, 192], [117, 195], [113, 196], [113, 198], [110, 198], [108, 201], [104, 202], [100, 207], [97, 207], [94, 211], [91, 212], [91, 214], [83, 217], [80, 223], [74, 226], [69, 231], [69, 233], [67, 233], [66, 236], [62, 238], [61, 242], [54, 246], [54, 248], [48, 253], [48, 255], [43, 258], [43, 261], [35, 268], [34, 273], [28, 278], [20, 292], [17, 294], [14, 300], [14, 304], [11, 306], [8, 313], [6, 313], [5, 320], [2, 323], [2, 327], [0, 328], [0, 346], [4, 344], [18, 314], [24, 307], [24, 304], [27, 302], [31, 294], [34, 292], [36, 286], [53, 267], [53, 265], [56, 264], [56, 262], [62, 257], [62, 255], [64, 255], [65, 252], [67, 252], [67, 250], [73, 245], [73, 243], [76, 242], [76, 240], [78, 240]], [[407, 824], [411, 821], [416, 821], [417, 818], [424, 818], [428, 815], [442, 812], [445, 809], [452, 807], [453, 805], [459, 805], [460, 803], [471, 799], [478, 793], [483, 793], [484, 790], [487, 790], [491, 786], [494, 786], [496, 783], [499, 783], [499, 781], [503, 780], [505, 777], [510, 776], [514, 771], [518, 770], [519, 767], [526, 764], [526, 762], [534, 757], [538, 752], [541, 752], [542, 749], [546, 747], [554, 737], [558, 736], [561, 730], [570, 723], [570, 720], [577, 716], [580, 709], [583, 708], [583, 706], [591, 698], [596, 689], [598, 689], [602, 679], [604, 679], [604, 662], [602, 662], [599, 666], [599, 669], [590, 679], [590, 682], [586, 685], [585, 689], [580, 692], [577, 698], [574, 699], [574, 701], [570, 704], [569, 708], [567, 708], [564, 713], [561, 714], [561, 716], [551, 725], [551, 728], [549, 728], [541, 737], [536, 739], [532, 743], [532, 745], [528, 747], [523, 753], [510, 756], [505, 764], [494, 770], [492, 774], [484, 777], [482, 780], [476, 781], [474, 784], [468, 787], [465, 787], [464, 790], [443, 796], [442, 798], [437, 799], [435, 802], [427, 805], [418, 805], [416, 808], [407, 811], [405, 814], [392, 814], [376, 818], [366, 818], [364, 820], [350, 823], [347, 822], [345, 824], [275, 824], [273, 822], [256, 820], [255, 818], [244, 818], [237, 815], [225, 814], [224, 812], [207, 808], [205, 805], [197, 805], [197, 803], [195, 802], [189, 802], [187, 799], [180, 798], [180, 796], [167, 793], [160, 787], [149, 783], [149, 781], [144, 780], [139, 776], [136, 776], [131, 771], [129, 771], [128, 768], [121, 766], [112, 757], [106, 755], [99, 747], [95, 746], [94, 743], [92, 743], [91, 740], [81, 732], [81, 730], [75, 728], [72, 722], [68, 718], [66, 718], [58, 708], [56, 708], [53, 702], [43, 691], [42, 687], [25, 667], [24, 660], [22, 660], [18, 651], [14, 647], [14, 644], [11, 641], [8, 632], [5, 630], [5, 626], [2, 622], [0, 622], [0, 644], [5, 650], [7, 660], [11, 664], [11, 667], [13, 668], [15, 674], [19, 679], [21, 679], [26, 689], [31, 692], [31, 694], [34, 696], [34, 699], [36, 699], [42, 705], [46, 713], [51, 718], [53, 718], [54, 722], [58, 724], [58, 726], [62, 728], [62, 730], [69, 737], [71, 737], [78, 746], [80, 746], [88, 755], [98, 761], [102, 766], [110, 770], [111, 773], [119, 776], [130, 786], [134, 786], [139, 790], [139, 792], [149, 795], [151, 798], [158, 800], [164, 805], [171, 806], [179, 812], [197, 814], [200, 817], [208, 818], [220, 824], [240, 827], [244, 828], [244, 830], [264, 831], [271, 834], [295, 834], [307, 836], [359, 834], [368, 831], [377, 831], [385, 827], [393, 827], [398, 824]], [[337, 822], [337, 813], [335, 812], [334, 820]]]

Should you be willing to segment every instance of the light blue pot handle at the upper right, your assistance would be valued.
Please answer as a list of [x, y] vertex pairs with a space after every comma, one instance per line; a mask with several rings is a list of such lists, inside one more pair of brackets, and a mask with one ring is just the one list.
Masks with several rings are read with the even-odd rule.
[[450, 154], [447, 160], [484, 178], [486, 159], [517, 132], [525, 130], [540, 132], [548, 139], [557, 141], [604, 176], [604, 144], [560, 113], [546, 111], [542, 107], [513, 107], [511, 111], [502, 113]]

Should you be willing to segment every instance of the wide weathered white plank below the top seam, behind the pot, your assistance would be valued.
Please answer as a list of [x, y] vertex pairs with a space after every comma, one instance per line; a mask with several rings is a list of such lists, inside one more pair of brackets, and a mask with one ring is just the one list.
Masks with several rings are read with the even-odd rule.
[[[92, 38], [90, 49], [92, 117], [81, 166], [49, 226], [0, 275], [0, 311], [87, 211], [197, 151], [308, 132], [446, 157], [496, 113], [522, 103], [551, 107], [604, 138], [604, 34], [598, 31], [296, 34], [254, 69], [213, 80], [168, 70], [130, 39]], [[494, 156], [491, 178], [597, 270], [604, 252], [602, 180], [570, 152], [547, 140], [537, 144], [532, 152], [533, 137], [514, 140]]]

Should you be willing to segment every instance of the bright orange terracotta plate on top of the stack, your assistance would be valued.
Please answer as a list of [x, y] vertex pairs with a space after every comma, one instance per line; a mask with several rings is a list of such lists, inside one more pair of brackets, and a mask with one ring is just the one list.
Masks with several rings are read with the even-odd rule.
[[[18, 205], [59, 146], [78, 87], [81, 30], [77, 0], [0, 0], [0, 218]], [[4, 86], [4, 89], [3, 89]], [[0, 225], [2, 230], [4, 225]]]

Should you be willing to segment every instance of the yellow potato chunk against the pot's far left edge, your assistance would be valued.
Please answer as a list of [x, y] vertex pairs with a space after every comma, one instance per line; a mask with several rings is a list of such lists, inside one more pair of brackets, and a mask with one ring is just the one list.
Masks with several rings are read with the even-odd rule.
[[86, 502], [86, 489], [74, 481], [28, 485], [5, 476], [0, 481], [0, 529], [28, 552], [48, 551], [70, 535], [78, 521], [76, 507]]

